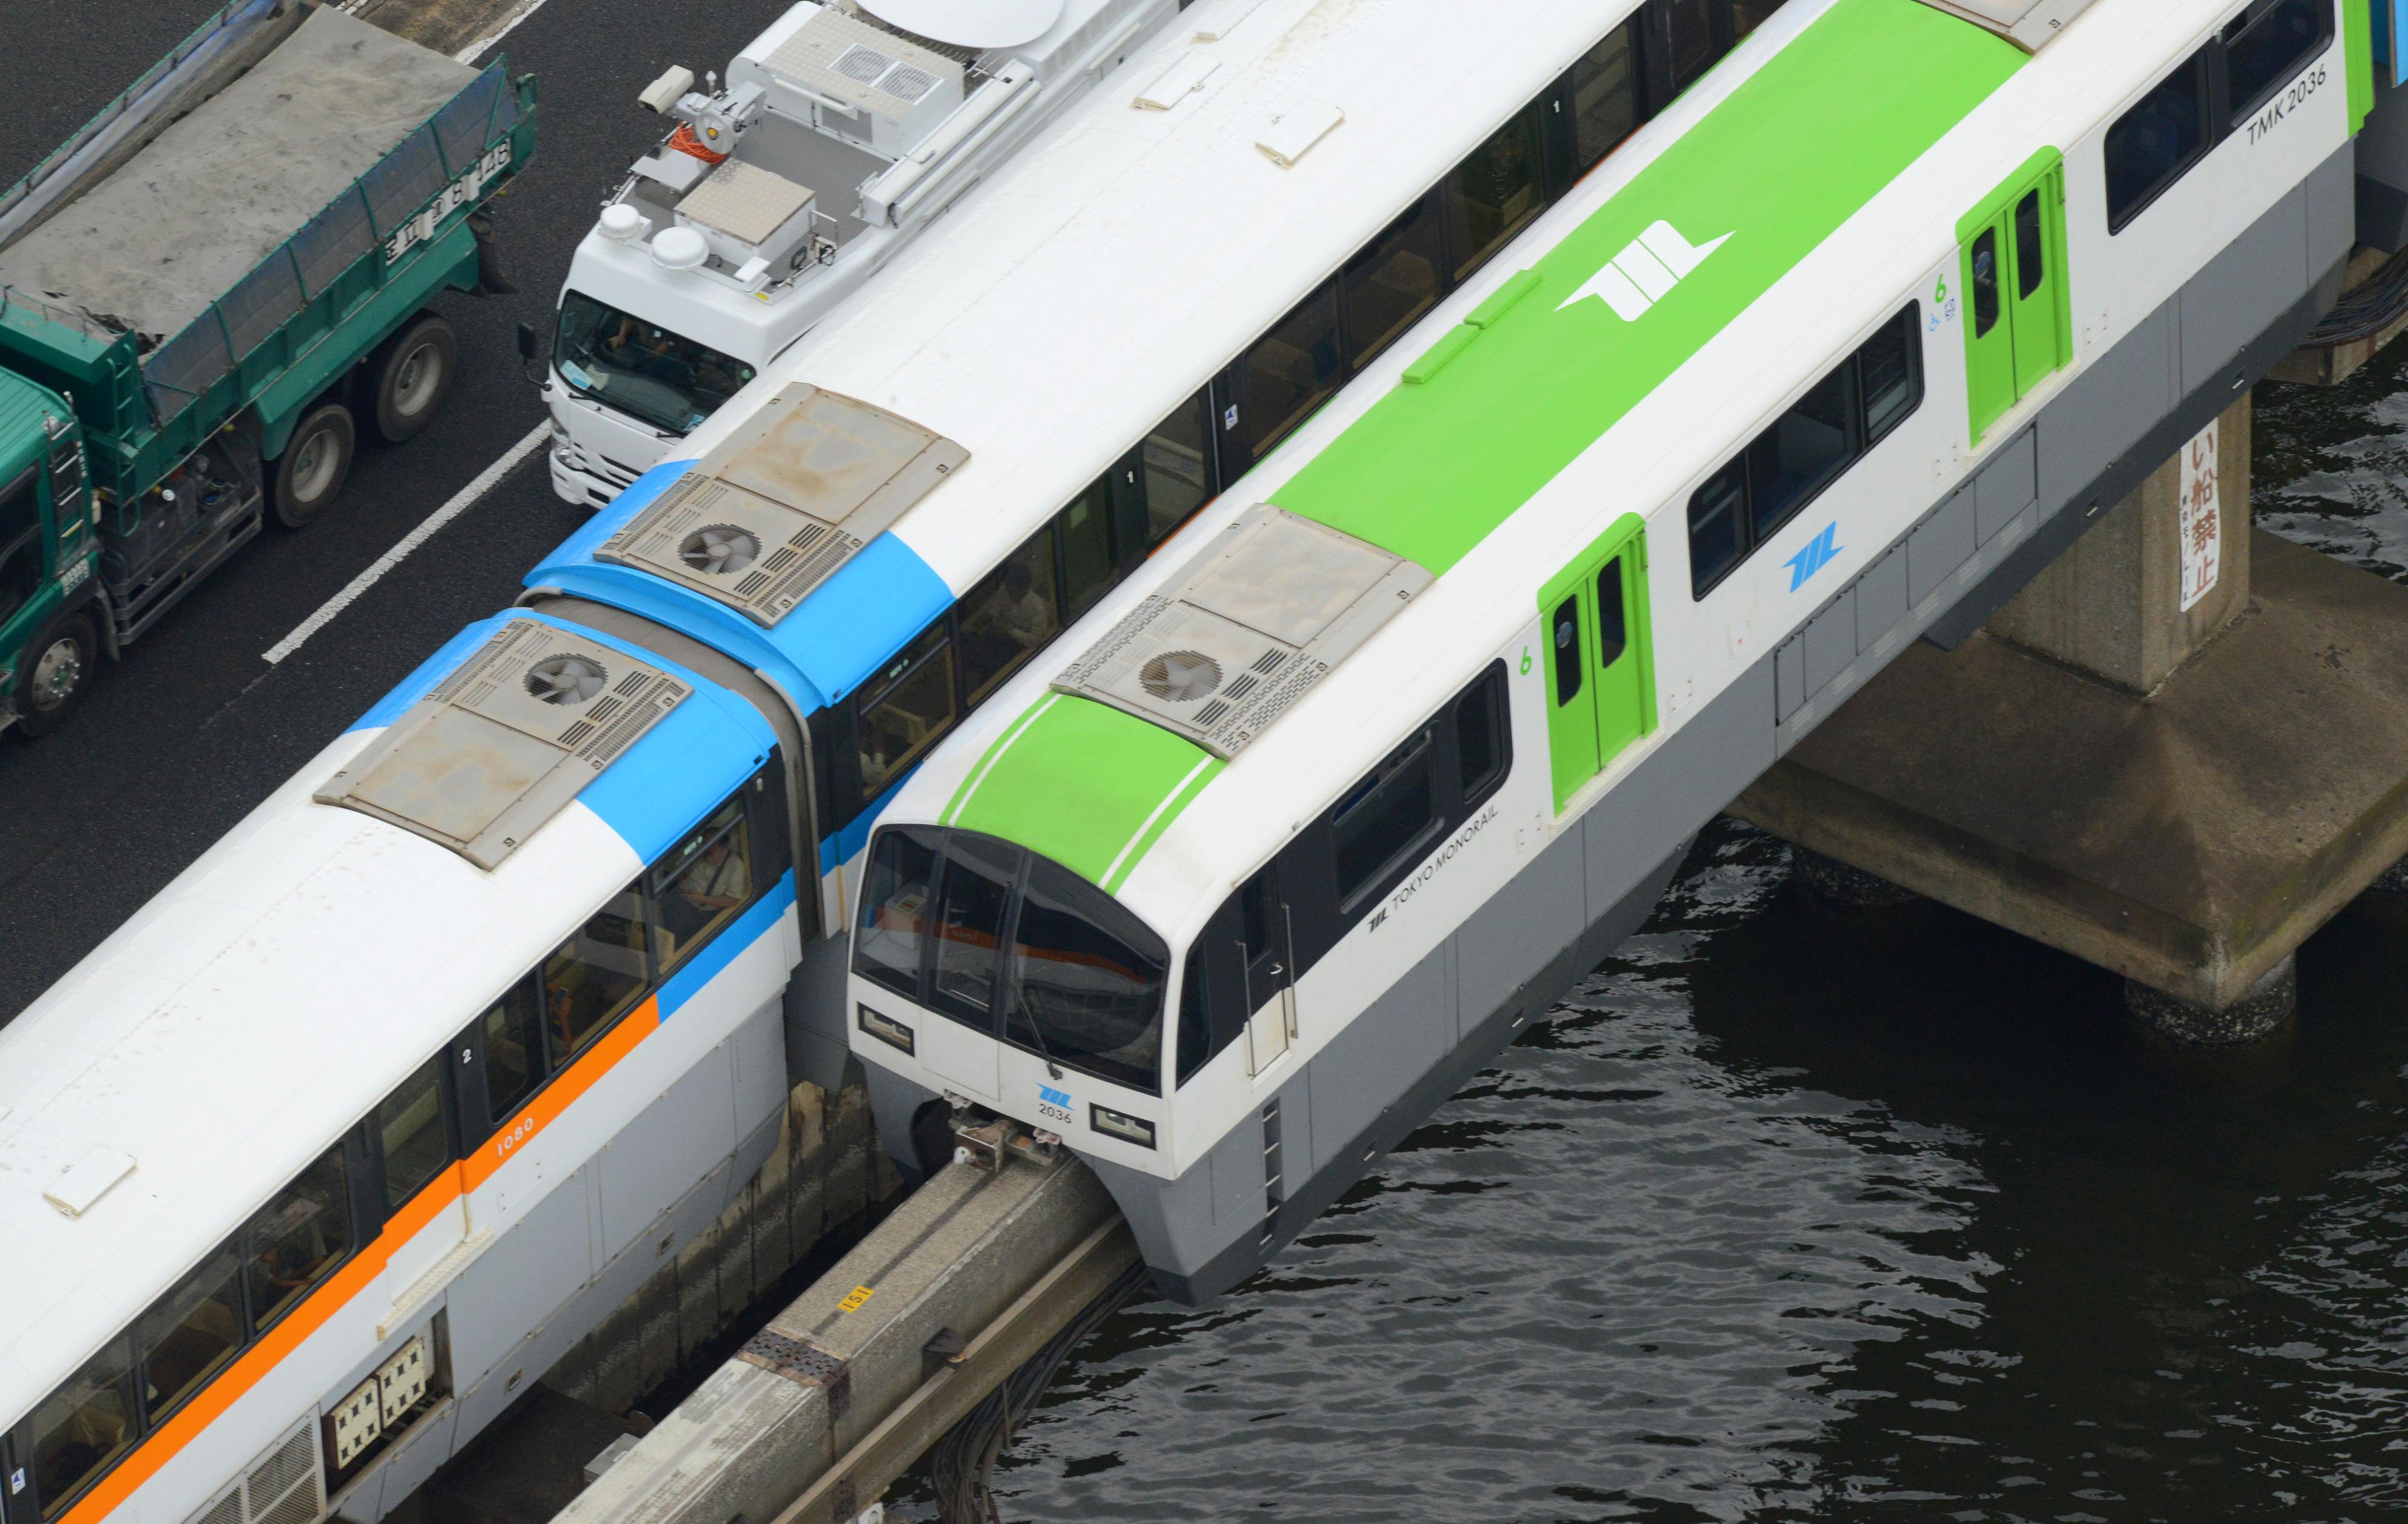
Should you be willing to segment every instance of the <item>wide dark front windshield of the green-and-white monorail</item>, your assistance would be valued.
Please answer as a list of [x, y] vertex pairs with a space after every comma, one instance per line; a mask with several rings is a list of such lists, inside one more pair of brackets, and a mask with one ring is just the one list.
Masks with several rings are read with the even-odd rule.
[[1161, 1093], [1168, 946], [1086, 879], [1007, 840], [879, 831], [852, 968], [1055, 1064]]

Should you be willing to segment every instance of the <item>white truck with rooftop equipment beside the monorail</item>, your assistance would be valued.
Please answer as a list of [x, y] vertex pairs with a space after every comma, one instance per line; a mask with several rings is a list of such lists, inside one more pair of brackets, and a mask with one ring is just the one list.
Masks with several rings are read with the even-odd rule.
[[677, 128], [561, 284], [554, 491], [609, 503], [1180, 7], [802, 0], [725, 84], [655, 79], [641, 101]]

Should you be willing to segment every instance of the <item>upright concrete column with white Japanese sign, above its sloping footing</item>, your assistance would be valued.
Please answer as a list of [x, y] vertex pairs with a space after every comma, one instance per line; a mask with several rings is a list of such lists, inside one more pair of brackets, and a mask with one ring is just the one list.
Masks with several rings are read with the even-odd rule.
[[1989, 633], [2155, 693], [2249, 609], [2249, 419], [2244, 395], [1999, 609]]

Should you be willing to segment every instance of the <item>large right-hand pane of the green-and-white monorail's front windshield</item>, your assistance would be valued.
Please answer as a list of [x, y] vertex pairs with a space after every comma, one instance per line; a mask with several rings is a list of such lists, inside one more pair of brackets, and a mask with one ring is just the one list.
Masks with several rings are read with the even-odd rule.
[[1158, 1095], [1168, 973], [1170, 949], [1144, 922], [1069, 869], [1031, 860], [1011, 937], [1007, 1038]]

